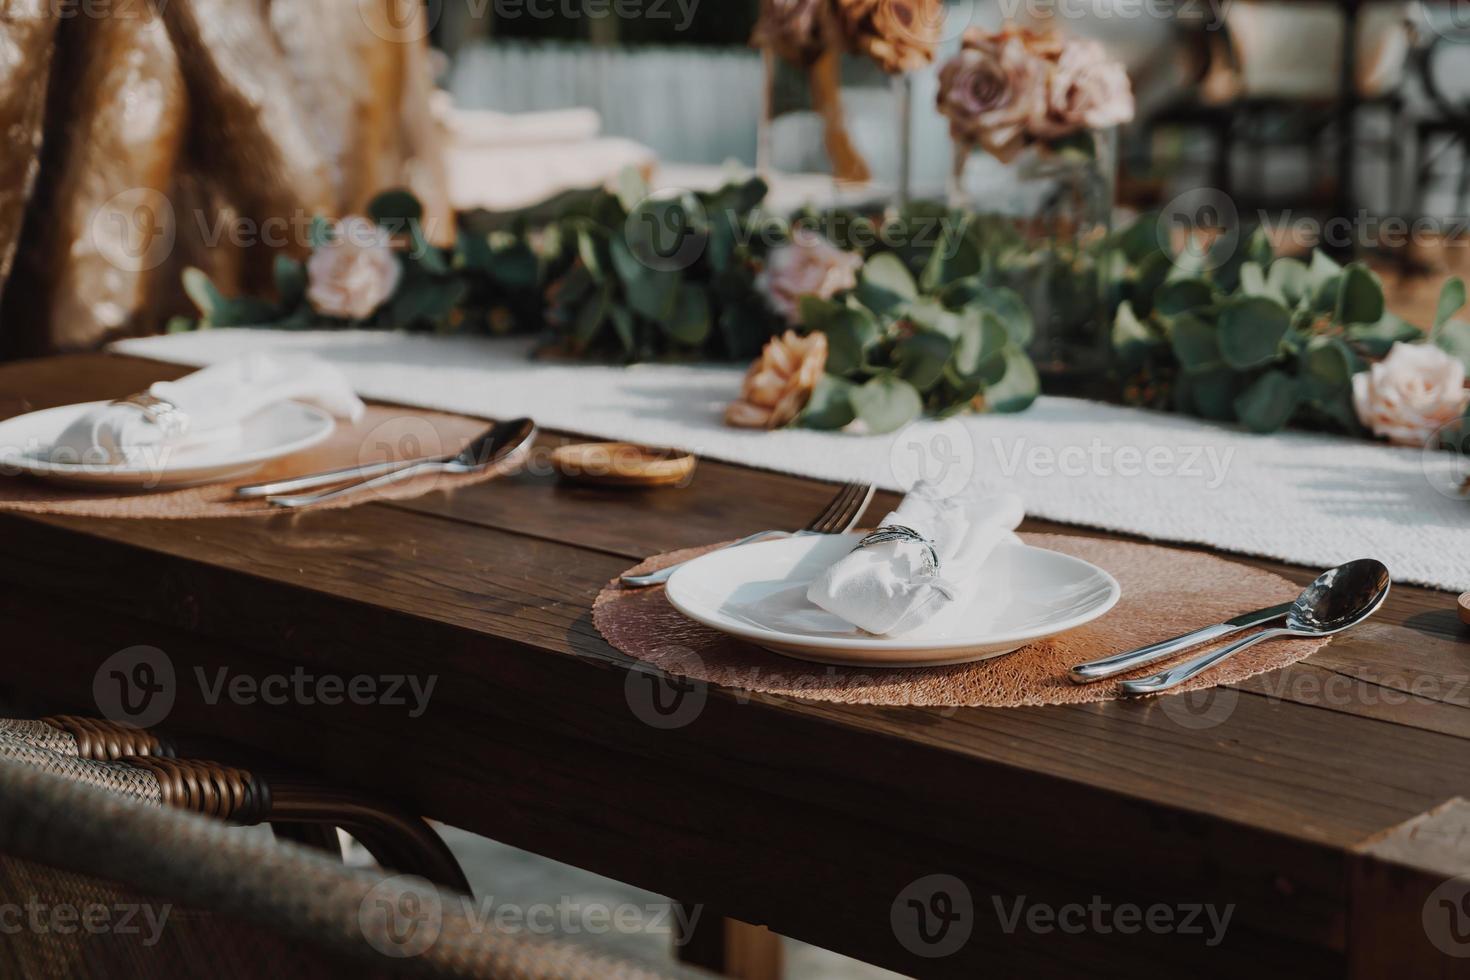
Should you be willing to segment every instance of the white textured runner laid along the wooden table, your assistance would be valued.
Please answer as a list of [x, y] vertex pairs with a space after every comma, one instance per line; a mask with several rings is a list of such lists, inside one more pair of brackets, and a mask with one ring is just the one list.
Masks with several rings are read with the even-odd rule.
[[1460, 460], [1448, 453], [1299, 432], [1258, 436], [1073, 398], [882, 436], [750, 432], [722, 423], [739, 391], [738, 367], [532, 361], [525, 339], [216, 329], [115, 345], [182, 364], [263, 348], [322, 357], [365, 398], [528, 414], [542, 428], [889, 489], [922, 469], [1011, 488], [1035, 517], [1310, 567], [1376, 557], [1395, 580], [1470, 589], [1470, 500], [1451, 489]]

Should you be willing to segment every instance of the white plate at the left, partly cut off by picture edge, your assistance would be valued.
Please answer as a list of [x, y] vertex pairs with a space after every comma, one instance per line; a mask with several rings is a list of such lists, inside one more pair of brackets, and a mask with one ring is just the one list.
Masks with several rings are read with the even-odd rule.
[[104, 404], [62, 406], [0, 422], [0, 472], [29, 473], [76, 486], [191, 486], [251, 473], [270, 460], [322, 442], [337, 428], [332, 416], [320, 408], [282, 401], [245, 419], [226, 436], [200, 445], [159, 448], [143, 463], [53, 463], [47, 458], [66, 426]]

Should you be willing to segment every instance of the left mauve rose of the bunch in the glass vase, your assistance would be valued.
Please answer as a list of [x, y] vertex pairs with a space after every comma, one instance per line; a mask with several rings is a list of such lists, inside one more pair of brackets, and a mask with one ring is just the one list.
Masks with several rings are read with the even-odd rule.
[[1028, 123], [1045, 107], [1047, 63], [1019, 37], [966, 47], [939, 69], [939, 112], [950, 119], [950, 135], [1001, 160], [1025, 145]]

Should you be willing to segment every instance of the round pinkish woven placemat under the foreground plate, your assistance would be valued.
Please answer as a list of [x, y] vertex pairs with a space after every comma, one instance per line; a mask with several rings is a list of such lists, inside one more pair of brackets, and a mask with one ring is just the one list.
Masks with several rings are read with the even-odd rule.
[[[1067, 680], [1067, 670], [1073, 664], [1289, 601], [1301, 591], [1279, 574], [1194, 551], [1070, 535], [1022, 538], [1111, 572], [1123, 586], [1123, 597], [1101, 619], [1061, 636], [992, 660], [950, 667], [831, 667], [782, 657], [685, 619], [669, 605], [663, 586], [628, 589], [617, 580], [598, 594], [592, 621], [607, 642], [625, 654], [667, 673], [725, 688], [848, 704], [1019, 707], [1122, 698], [1117, 680], [1123, 677], [1075, 685]], [[688, 548], [654, 555], [635, 572], [653, 572], [710, 550]], [[1235, 683], [1276, 670], [1313, 654], [1326, 642], [1291, 639], [1260, 644], [1176, 691]], [[1210, 646], [1185, 655], [1205, 649]], [[1129, 676], [1158, 669], [1155, 664]]]

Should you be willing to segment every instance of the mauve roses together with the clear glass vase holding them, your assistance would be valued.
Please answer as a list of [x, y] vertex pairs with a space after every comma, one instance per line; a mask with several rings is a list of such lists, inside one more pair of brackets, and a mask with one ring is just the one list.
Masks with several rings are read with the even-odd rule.
[[1133, 118], [1127, 72], [1097, 41], [972, 28], [939, 69], [938, 109], [954, 141], [950, 204], [1004, 219], [994, 264], [1032, 309], [1038, 367], [1100, 375], [1098, 247], [1111, 226], [1113, 132]]

